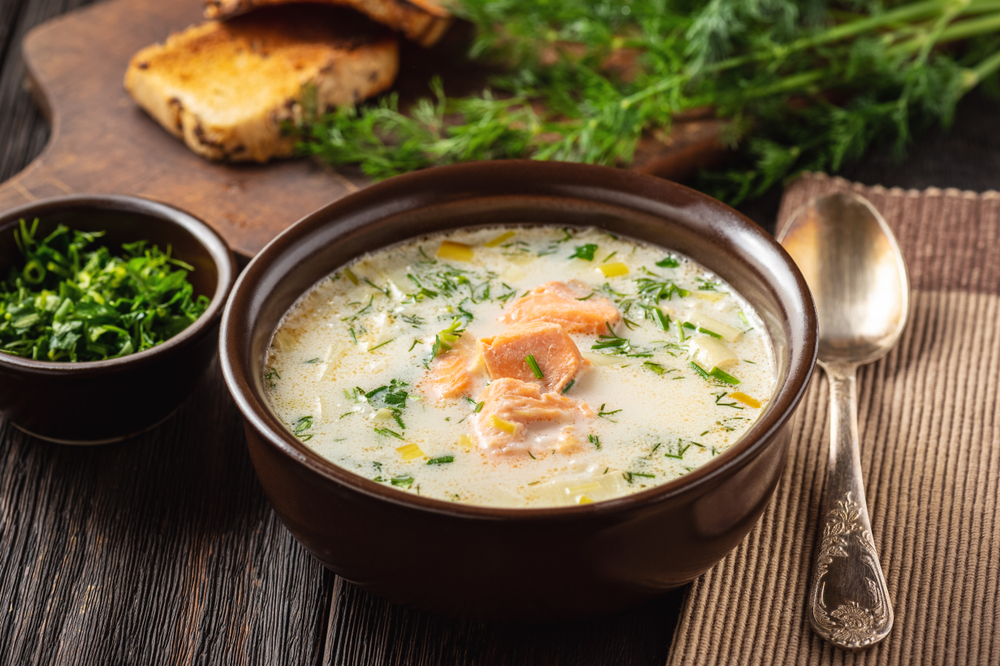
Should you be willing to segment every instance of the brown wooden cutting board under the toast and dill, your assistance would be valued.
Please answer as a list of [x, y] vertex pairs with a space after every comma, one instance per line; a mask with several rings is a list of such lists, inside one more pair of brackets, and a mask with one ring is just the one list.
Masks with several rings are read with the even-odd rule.
[[[201, 22], [203, 0], [107, 0], [53, 19], [24, 40], [27, 79], [52, 125], [49, 144], [0, 185], [0, 211], [74, 193], [131, 194], [183, 208], [233, 250], [253, 256], [296, 220], [369, 181], [306, 159], [266, 165], [208, 162], [140, 110], [122, 88], [129, 59]], [[453, 29], [454, 30], [454, 29]], [[454, 40], [452, 40], [454, 41]], [[397, 87], [420, 94], [433, 73], [462, 78], [448, 45], [404, 48]], [[466, 76], [467, 79], [467, 76]], [[677, 180], [719, 158], [718, 122], [696, 117], [648, 140], [637, 170]]]

